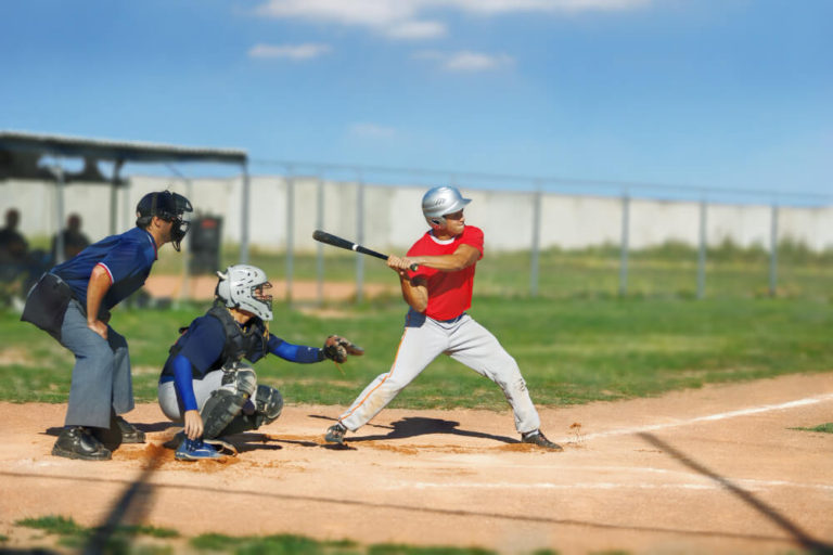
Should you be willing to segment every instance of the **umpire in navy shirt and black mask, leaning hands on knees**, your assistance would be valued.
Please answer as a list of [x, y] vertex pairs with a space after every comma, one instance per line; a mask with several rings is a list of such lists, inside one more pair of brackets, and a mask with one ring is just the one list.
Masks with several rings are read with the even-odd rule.
[[110, 310], [144, 284], [165, 243], [179, 251], [190, 225], [183, 215], [193, 208], [184, 196], [163, 191], [144, 195], [136, 211], [136, 228], [52, 268], [26, 299], [21, 320], [75, 354], [56, 456], [106, 461], [121, 442], [144, 442], [144, 434], [119, 416], [133, 409], [133, 385], [127, 340], [110, 327]]

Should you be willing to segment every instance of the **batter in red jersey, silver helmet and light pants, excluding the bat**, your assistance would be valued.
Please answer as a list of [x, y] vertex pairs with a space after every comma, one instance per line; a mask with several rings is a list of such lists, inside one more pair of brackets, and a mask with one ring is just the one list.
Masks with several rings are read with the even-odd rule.
[[[331, 426], [324, 439], [343, 443], [347, 430], [370, 422], [439, 354], [446, 353], [503, 390], [514, 411], [522, 441], [561, 451], [540, 431], [540, 418], [515, 360], [498, 339], [465, 311], [472, 305], [474, 272], [483, 258], [483, 231], [465, 224], [463, 208], [471, 202], [452, 186], [430, 190], [422, 211], [431, 225], [406, 257], [390, 256], [387, 266], [399, 274], [410, 310], [390, 371], [359, 393]], [[411, 264], [419, 264], [411, 271]]]

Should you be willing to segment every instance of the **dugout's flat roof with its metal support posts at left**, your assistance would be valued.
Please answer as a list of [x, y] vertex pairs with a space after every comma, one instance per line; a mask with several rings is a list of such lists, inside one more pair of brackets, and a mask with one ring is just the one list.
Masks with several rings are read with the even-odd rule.
[[[82, 158], [80, 171], [68, 172], [60, 166], [48, 165], [44, 158]], [[99, 162], [113, 164], [113, 175], [104, 176]], [[241, 258], [248, 258], [248, 230], [245, 212], [248, 210], [248, 155], [238, 149], [208, 149], [139, 141], [112, 141], [59, 134], [41, 134], [26, 131], [0, 130], [0, 181], [7, 179], [54, 180], [57, 197], [57, 225], [63, 229], [63, 186], [73, 182], [102, 183], [112, 188], [111, 232], [115, 230], [116, 195], [119, 186], [128, 184], [119, 176], [125, 163], [170, 164], [170, 163], [219, 163], [241, 166], [243, 172], [243, 230], [241, 233]], [[59, 233], [59, 237], [61, 234]], [[59, 238], [60, 241], [60, 238]], [[59, 248], [59, 253], [63, 249]]]

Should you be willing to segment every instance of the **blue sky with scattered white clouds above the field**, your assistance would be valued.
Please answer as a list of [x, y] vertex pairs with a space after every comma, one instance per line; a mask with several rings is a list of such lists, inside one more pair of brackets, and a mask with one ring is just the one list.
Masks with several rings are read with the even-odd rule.
[[833, 195], [826, 0], [8, 1], [0, 52], [1, 129]]

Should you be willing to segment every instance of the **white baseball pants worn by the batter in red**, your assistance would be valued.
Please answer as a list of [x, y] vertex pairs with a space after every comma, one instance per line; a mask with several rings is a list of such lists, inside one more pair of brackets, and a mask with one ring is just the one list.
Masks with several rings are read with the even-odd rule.
[[488, 330], [466, 313], [443, 322], [414, 310], [406, 317], [405, 332], [390, 372], [380, 374], [371, 382], [338, 420], [347, 429], [357, 430], [444, 352], [500, 386], [514, 411], [517, 431], [525, 434], [538, 429], [538, 411], [529, 398], [521, 370]]

